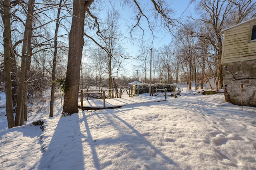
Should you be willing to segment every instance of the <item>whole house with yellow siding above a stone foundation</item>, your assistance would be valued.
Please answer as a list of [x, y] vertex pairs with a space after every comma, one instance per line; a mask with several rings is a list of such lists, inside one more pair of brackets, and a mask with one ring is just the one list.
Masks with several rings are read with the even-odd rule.
[[[256, 18], [222, 31], [221, 64], [225, 100], [256, 107]], [[243, 99], [240, 83], [243, 84]]]

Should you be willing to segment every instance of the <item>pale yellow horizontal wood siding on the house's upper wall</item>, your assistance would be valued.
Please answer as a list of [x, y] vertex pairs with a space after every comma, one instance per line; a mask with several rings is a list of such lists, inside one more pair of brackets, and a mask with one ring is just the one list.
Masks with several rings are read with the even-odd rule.
[[256, 60], [256, 41], [250, 41], [256, 18], [224, 31], [221, 64]]

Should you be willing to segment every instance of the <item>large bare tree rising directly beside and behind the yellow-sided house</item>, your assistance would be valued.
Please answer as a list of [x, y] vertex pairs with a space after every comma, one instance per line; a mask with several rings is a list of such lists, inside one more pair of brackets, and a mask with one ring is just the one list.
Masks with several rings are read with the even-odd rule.
[[200, 14], [194, 20], [206, 28], [206, 34], [198, 32], [198, 36], [207, 39], [214, 47], [216, 55], [215, 76], [218, 75], [220, 87], [223, 84], [222, 65], [222, 35], [224, 28], [239, 24], [255, 16], [256, 2], [254, 0], [198, 0], [196, 10]]

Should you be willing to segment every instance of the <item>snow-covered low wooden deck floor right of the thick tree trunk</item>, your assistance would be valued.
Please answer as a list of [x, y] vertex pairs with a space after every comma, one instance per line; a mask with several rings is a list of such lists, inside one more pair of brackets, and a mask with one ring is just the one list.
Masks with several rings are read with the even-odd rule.
[[[124, 97], [115, 99], [105, 100], [105, 109], [115, 109], [120, 108], [125, 105], [134, 105], [139, 103], [150, 103], [156, 101], [165, 101], [164, 97], [153, 97], [153, 96], [134, 96], [134, 97]], [[93, 99], [83, 101], [83, 108], [81, 107], [81, 102], [78, 103], [78, 108], [82, 110], [100, 110], [104, 109], [103, 99]]]

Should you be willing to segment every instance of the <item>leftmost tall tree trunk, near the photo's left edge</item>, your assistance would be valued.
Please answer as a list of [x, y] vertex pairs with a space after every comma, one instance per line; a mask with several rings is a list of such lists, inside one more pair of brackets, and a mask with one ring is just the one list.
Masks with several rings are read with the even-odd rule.
[[[2, 4], [2, 3], [1, 3]], [[15, 126], [13, 110], [12, 110], [12, 79], [11, 79], [11, 61], [10, 61], [10, 41], [11, 41], [11, 22], [10, 22], [10, 4], [9, 0], [3, 1], [4, 14], [4, 81], [6, 96], [6, 116], [8, 128]]]

